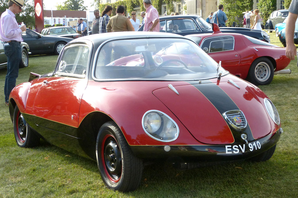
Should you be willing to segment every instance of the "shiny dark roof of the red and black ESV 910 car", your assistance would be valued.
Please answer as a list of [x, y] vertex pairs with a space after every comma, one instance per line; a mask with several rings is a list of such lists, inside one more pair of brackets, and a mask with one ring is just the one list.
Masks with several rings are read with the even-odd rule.
[[143, 31], [125, 31], [125, 32], [110, 32], [110, 33], [102, 33], [100, 36], [98, 34], [92, 34], [85, 37], [80, 37], [72, 42], [80, 42], [84, 40], [91, 40], [94, 43], [103, 43], [110, 39], [134, 39], [134, 38], [185, 38], [178, 34], [172, 34], [172, 33], [165, 33], [165, 32], [143, 32]]

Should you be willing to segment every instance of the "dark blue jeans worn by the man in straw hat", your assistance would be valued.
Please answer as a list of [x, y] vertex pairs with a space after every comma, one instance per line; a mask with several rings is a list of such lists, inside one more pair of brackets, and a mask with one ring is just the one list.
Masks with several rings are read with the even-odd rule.
[[15, 87], [15, 81], [18, 77], [18, 69], [21, 61], [20, 42], [9, 42], [9, 45], [4, 46], [4, 53], [7, 56], [7, 74], [5, 76], [4, 95], [5, 102], [8, 102], [9, 94]]

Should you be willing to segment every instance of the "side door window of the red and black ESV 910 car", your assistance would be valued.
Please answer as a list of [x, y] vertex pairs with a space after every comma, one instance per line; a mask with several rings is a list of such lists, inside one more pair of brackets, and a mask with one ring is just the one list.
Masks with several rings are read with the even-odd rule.
[[89, 47], [72, 45], [64, 49], [56, 74], [85, 77], [88, 65]]

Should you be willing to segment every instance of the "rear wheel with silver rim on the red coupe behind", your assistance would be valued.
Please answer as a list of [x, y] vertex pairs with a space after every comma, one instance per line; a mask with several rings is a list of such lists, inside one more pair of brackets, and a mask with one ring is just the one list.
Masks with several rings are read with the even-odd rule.
[[247, 80], [255, 85], [268, 85], [274, 75], [273, 64], [268, 58], [257, 58], [249, 68]]

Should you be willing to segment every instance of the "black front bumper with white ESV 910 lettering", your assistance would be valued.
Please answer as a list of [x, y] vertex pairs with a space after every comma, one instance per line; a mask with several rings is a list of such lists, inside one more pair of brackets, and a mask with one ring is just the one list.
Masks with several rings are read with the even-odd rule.
[[248, 159], [267, 151], [269, 148], [277, 144], [281, 133], [282, 129], [279, 129], [275, 133], [247, 143], [243, 141], [241, 143], [224, 145], [131, 146], [131, 150], [137, 157], [148, 161], [235, 161]]

